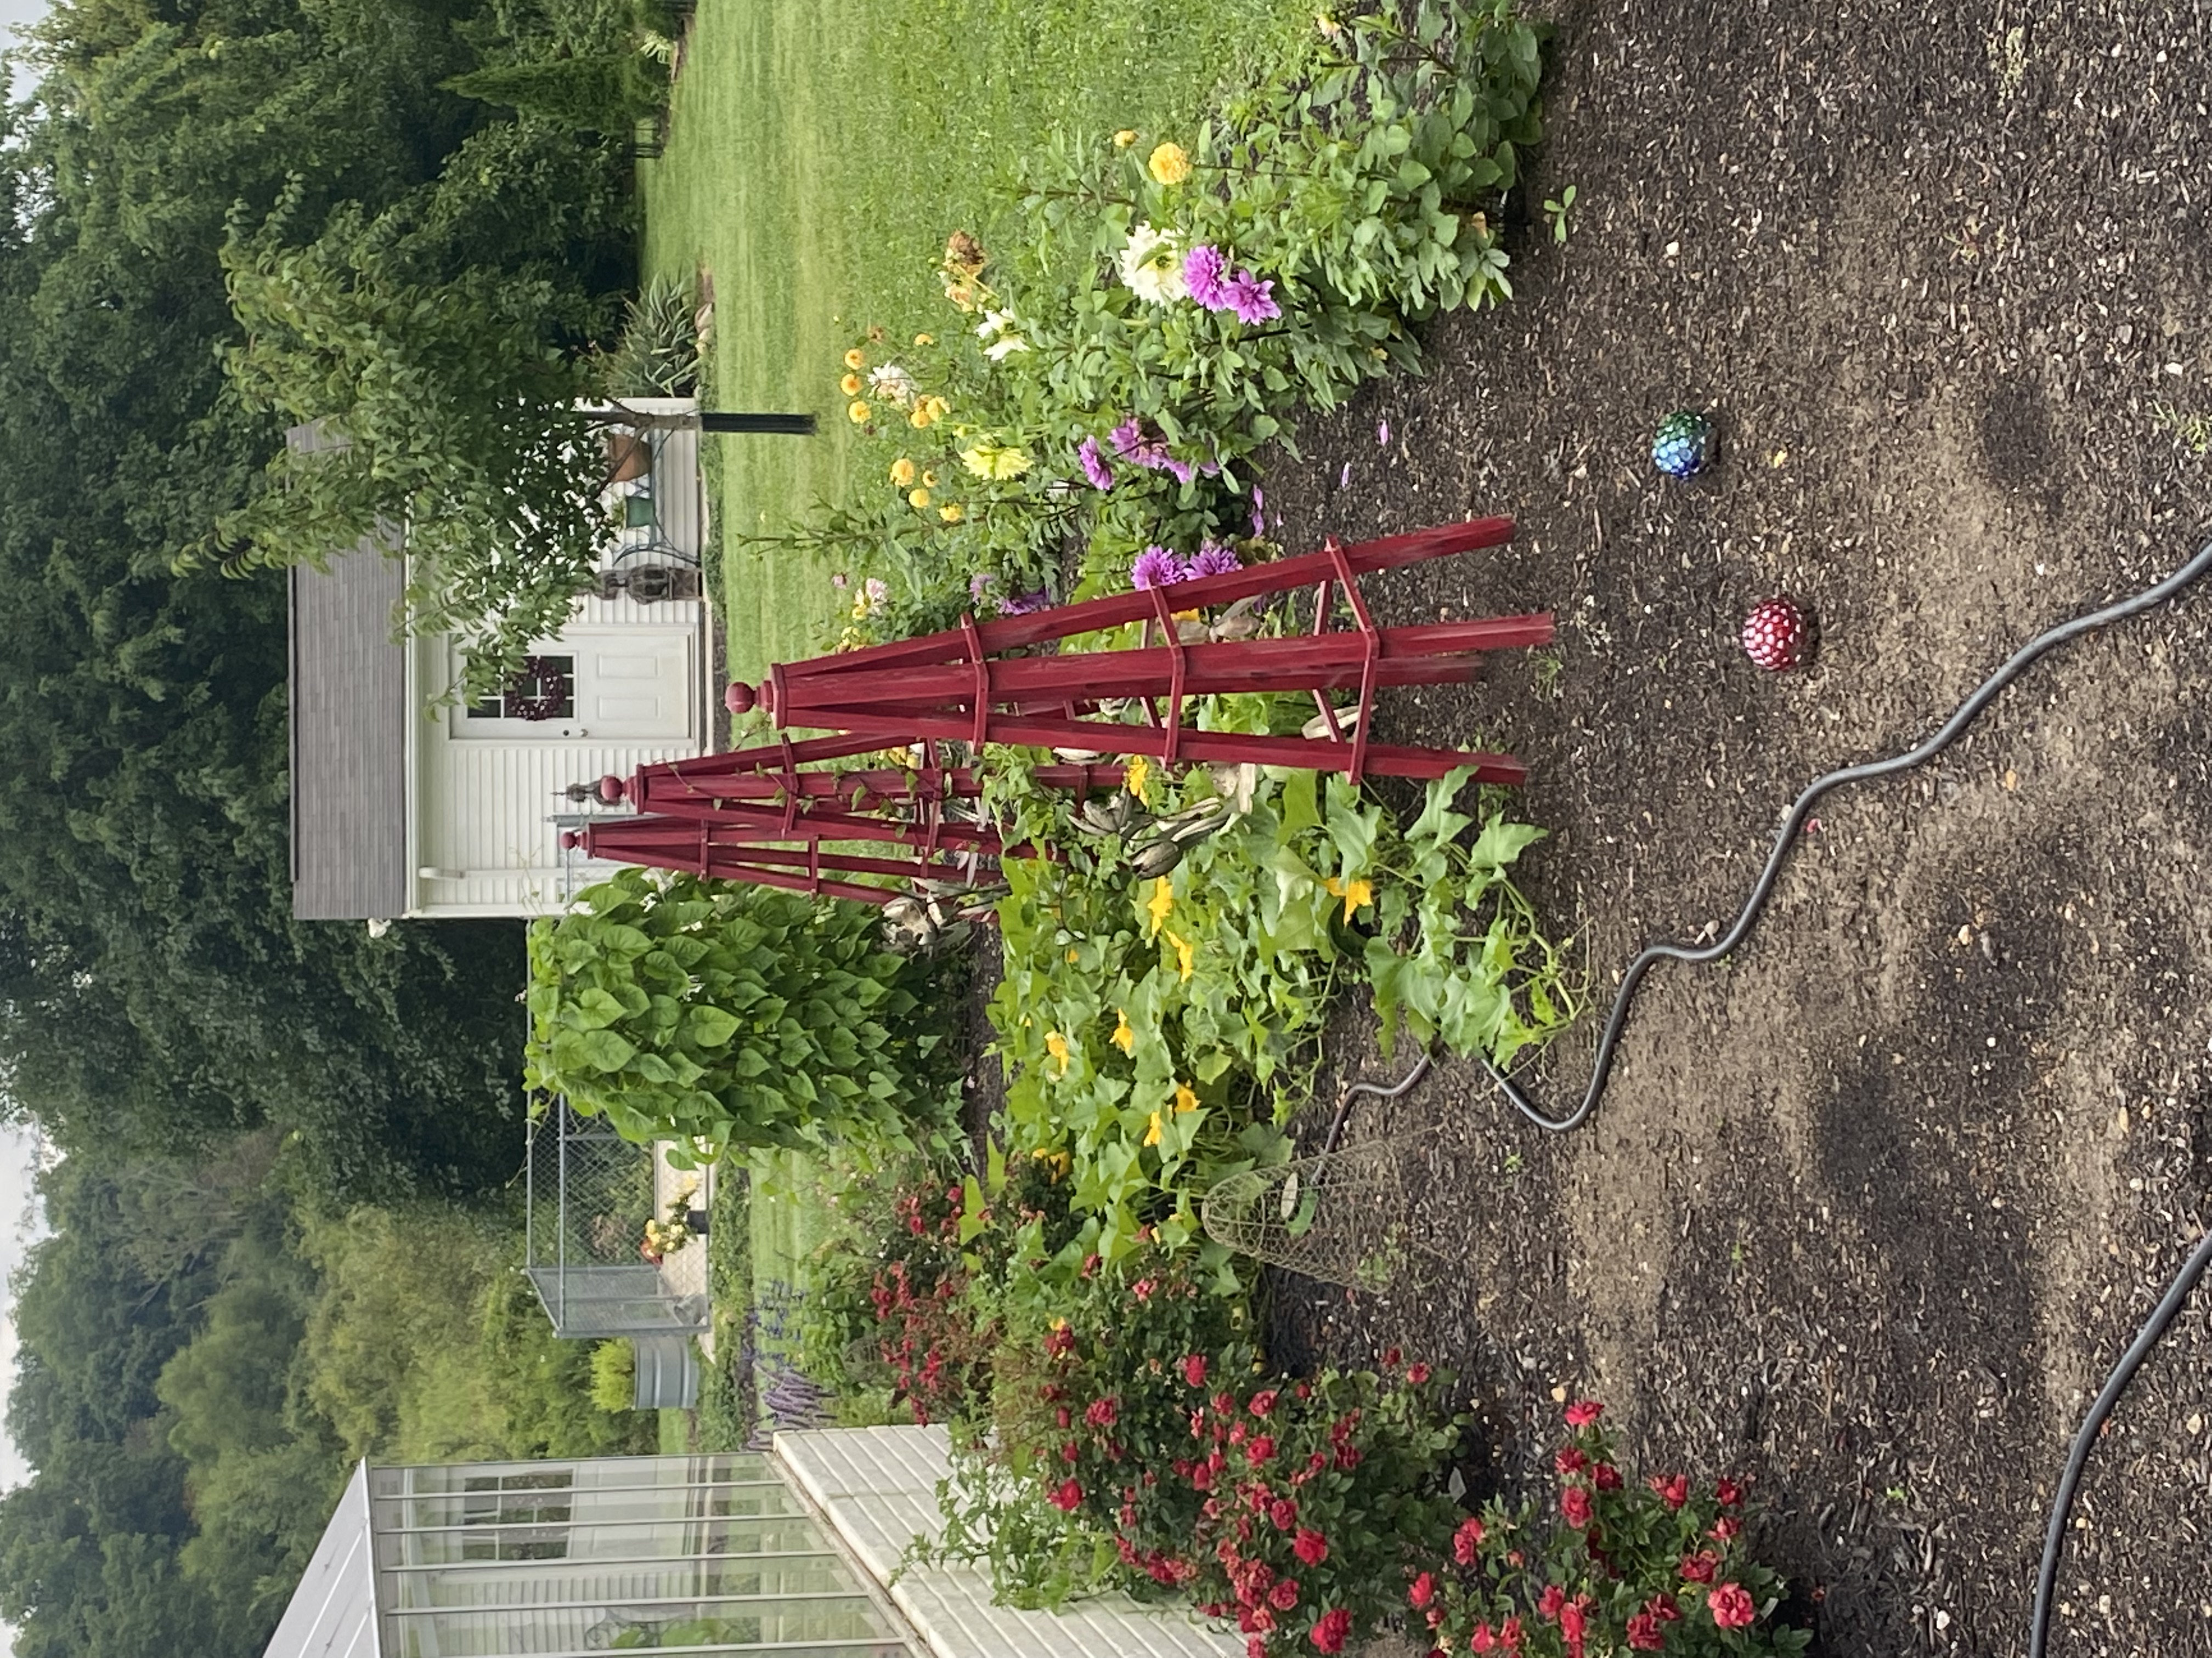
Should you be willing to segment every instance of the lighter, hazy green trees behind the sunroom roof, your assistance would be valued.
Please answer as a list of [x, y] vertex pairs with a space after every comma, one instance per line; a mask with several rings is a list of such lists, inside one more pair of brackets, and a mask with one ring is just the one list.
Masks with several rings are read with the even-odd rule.
[[591, 1404], [511, 1227], [301, 1209], [272, 1165], [263, 1134], [44, 1178], [7, 1415], [35, 1477], [0, 1497], [24, 1658], [257, 1654], [358, 1457], [653, 1448], [650, 1415]]

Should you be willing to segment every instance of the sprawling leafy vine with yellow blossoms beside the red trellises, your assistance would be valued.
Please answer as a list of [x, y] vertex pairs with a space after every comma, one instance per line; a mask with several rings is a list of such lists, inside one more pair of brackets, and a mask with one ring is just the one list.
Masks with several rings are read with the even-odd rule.
[[[1161, 822], [1219, 800], [1203, 767], [1172, 796], [1135, 776], [1170, 814]], [[1190, 1242], [1210, 1185], [1285, 1156], [1276, 1123], [1305, 1099], [1338, 988], [1367, 982], [1385, 1048], [1405, 1030], [1500, 1066], [1568, 1021], [1559, 951], [1509, 880], [1542, 831], [1491, 802], [1469, 842], [1475, 820], [1451, 809], [1462, 783], [1433, 783], [1400, 831], [1343, 778], [1252, 774], [1232, 783], [1250, 800], [1223, 800], [1223, 827], [1150, 878], [1137, 873], [1150, 853], [1133, 858], [1148, 814], [1086, 844], [1064, 802], [1009, 807], [1015, 833], [1068, 847], [1055, 862], [1006, 860], [991, 999], [1006, 1156], [1068, 1158], [1071, 1207], [1095, 1220], [1053, 1253], [1057, 1282], [1084, 1253], [1126, 1253], [1146, 1227]]]

